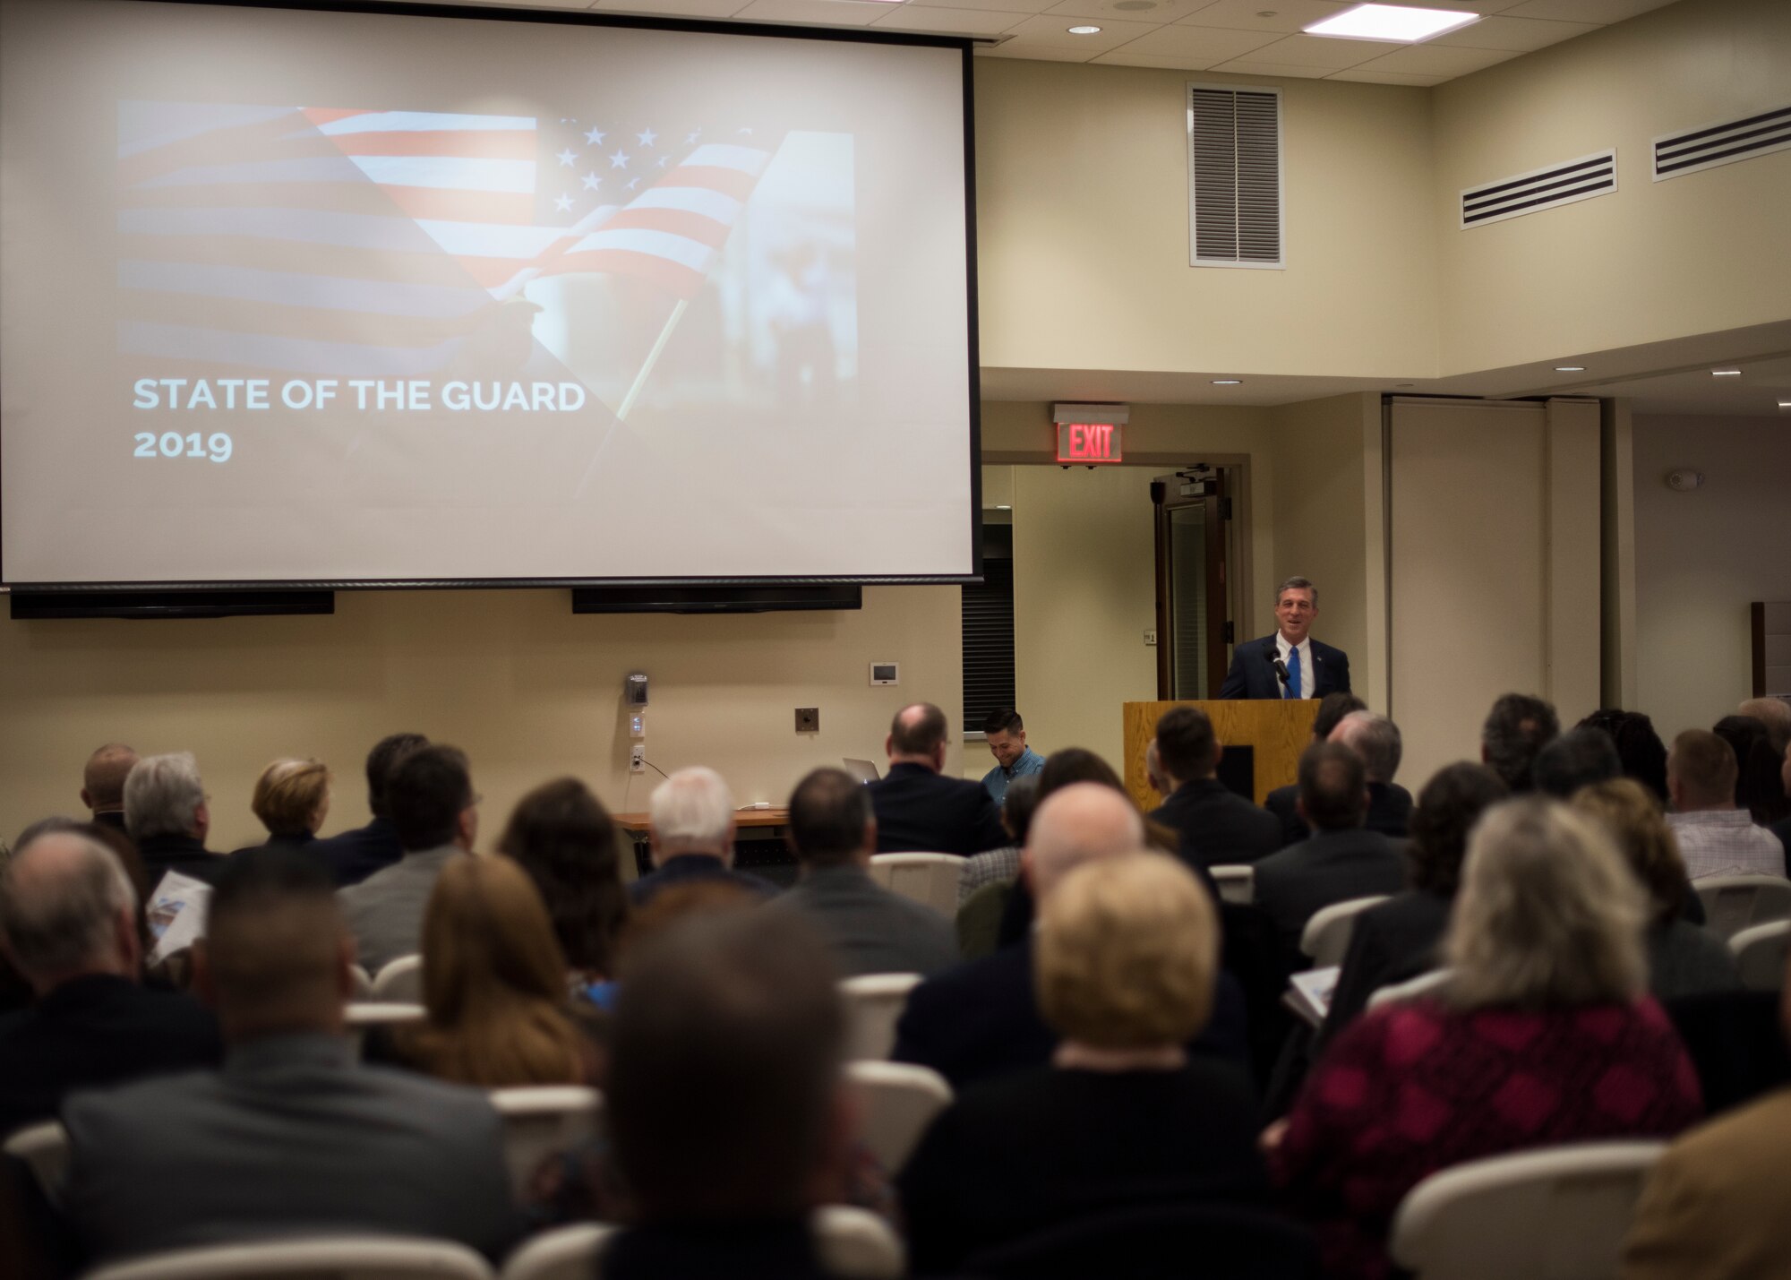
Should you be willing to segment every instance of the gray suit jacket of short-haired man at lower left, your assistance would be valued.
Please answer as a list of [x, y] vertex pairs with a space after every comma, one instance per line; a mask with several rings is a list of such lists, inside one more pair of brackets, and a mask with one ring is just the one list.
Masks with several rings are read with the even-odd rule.
[[270, 1036], [222, 1072], [73, 1094], [63, 1122], [68, 1217], [99, 1260], [319, 1232], [496, 1258], [519, 1226], [491, 1103], [360, 1067], [340, 1036]]

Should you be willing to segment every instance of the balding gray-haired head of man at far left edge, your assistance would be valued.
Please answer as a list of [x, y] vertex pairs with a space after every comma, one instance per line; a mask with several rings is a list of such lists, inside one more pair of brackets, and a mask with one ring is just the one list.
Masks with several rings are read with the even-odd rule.
[[136, 889], [99, 841], [50, 830], [0, 873], [0, 943], [39, 995], [88, 973], [136, 973]]

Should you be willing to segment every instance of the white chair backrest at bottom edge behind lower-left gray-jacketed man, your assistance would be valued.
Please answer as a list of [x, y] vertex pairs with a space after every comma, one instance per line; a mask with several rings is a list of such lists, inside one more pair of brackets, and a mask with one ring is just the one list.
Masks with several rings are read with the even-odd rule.
[[493, 1280], [464, 1244], [394, 1235], [208, 1244], [88, 1271], [86, 1280]]

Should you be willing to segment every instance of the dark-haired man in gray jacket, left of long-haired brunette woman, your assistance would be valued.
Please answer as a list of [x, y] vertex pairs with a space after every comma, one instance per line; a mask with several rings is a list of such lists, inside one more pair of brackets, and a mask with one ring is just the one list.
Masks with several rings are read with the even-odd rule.
[[369, 973], [421, 950], [423, 911], [435, 877], [457, 853], [471, 852], [478, 837], [478, 796], [457, 748], [408, 753], [392, 767], [385, 792], [405, 855], [340, 891], [342, 914]]

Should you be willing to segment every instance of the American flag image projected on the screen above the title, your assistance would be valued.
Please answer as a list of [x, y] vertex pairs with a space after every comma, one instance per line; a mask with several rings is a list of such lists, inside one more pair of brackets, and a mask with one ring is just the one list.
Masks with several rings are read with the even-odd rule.
[[120, 350], [444, 368], [539, 276], [702, 290], [781, 134], [571, 117], [120, 104]]

